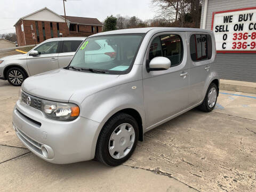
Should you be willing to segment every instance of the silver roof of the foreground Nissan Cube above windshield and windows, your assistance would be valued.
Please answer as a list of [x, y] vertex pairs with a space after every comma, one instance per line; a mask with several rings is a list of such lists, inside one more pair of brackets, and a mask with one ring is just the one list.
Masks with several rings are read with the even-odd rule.
[[100, 35], [115, 35], [115, 34], [146, 34], [148, 31], [164, 32], [164, 31], [193, 31], [193, 32], [206, 32], [212, 33], [211, 30], [198, 29], [198, 28], [181, 28], [181, 27], [146, 27], [146, 28], [132, 28], [132, 29], [119, 29], [106, 31], [98, 34], [91, 35], [90, 37]]

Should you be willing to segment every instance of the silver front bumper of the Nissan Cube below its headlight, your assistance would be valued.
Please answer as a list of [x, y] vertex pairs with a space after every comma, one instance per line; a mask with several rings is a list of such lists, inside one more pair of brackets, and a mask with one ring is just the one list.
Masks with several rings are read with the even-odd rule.
[[51, 163], [67, 164], [94, 158], [100, 123], [81, 116], [71, 122], [54, 121], [17, 101], [13, 127], [35, 155]]

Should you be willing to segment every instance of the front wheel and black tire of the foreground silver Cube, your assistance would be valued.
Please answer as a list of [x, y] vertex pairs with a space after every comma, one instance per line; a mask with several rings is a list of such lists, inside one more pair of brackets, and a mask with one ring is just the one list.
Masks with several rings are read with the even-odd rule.
[[109, 166], [117, 166], [130, 158], [138, 142], [139, 126], [128, 114], [118, 113], [103, 126], [95, 157]]

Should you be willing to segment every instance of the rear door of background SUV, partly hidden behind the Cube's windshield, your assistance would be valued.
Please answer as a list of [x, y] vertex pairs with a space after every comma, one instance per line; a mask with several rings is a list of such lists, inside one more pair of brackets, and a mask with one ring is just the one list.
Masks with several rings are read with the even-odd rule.
[[69, 64], [81, 43], [82, 40], [61, 41], [61, 48], [58, 58], [59, 68], [66, 67]]

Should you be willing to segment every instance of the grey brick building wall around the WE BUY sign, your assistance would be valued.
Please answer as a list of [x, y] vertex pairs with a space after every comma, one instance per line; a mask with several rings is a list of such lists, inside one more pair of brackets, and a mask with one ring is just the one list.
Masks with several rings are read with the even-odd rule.
[[[203, 28], [204, 6], [202, 4], [201, 28]], [[208, 0], [206, 27], [212, 28], [213, 12], [256, 7], [255, 0]], [[256, 82], [256, 51], [255, 53], [217, 53], [215, 59], [218, 74], [222, 79]]]

